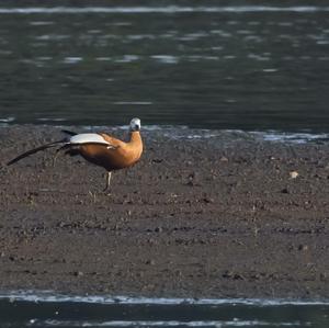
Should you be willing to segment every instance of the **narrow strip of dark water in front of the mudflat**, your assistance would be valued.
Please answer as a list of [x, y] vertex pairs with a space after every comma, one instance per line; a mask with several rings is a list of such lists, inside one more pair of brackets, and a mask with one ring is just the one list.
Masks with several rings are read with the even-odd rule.
[[[265, 299], [0, 296], [1, 327], [328, 327], [329, 303]], [[13, 319], [14, 318], [14, 319]]]

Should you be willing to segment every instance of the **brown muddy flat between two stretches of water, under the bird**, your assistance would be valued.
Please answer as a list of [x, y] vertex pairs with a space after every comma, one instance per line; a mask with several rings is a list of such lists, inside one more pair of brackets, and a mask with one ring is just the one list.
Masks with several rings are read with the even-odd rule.
[[[61, 137], [1, 127], [0, 161]], [[111, 194], [103, 169], [78, 157], [53, 167], [54, 150], [0, 171], [0, 290], [328, 297], [328, 143], [144, 137]]]

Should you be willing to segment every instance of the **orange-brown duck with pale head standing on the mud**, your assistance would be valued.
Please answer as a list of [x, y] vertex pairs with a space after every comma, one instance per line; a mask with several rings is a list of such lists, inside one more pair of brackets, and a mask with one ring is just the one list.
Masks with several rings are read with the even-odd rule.
[[7, 162], [7, 166], [11, 166], [35, 152], [59, 147], [56, 149], [54, 161], [57, 155], [64, 151], [65, 155], [80, 155], [87, 161], [104, 168], [107, 172], [104, 188], [104, 191], [106, 191], [110, 189], [112, 171], [132, 167], [140, 159], [143, 154], [139, 118], [131, 121], [128, 142], [120, 140], [105, 133], [77, 134], [67, 129], [63, 129], [63, 132], [69, 135], [69, 137], [27, 150]]

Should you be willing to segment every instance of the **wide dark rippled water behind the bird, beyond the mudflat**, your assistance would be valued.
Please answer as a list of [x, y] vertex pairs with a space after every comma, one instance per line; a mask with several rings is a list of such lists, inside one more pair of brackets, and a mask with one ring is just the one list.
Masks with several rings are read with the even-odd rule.
[[0, 3], [2, 122], [329, 129], [326, 2], [77, 2]]

